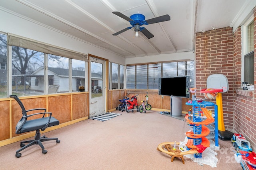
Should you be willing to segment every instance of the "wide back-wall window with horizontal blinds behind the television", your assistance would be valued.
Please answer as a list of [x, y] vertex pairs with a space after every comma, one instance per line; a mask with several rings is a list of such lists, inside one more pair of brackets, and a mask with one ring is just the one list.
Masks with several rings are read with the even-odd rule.
[[127, 89], [158, 89], [160, 77], [190, 75], [194, 87], [194, 61], [175, 61], [128, 65], [126, 69]]

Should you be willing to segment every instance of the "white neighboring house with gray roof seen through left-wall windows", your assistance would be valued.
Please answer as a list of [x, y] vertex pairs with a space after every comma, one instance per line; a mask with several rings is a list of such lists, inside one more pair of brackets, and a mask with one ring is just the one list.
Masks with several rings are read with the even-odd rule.
[[[31, 90], [44, 90], [44, 67], [40, 67], [31, 76]], [[58, 93], [68, 92], [68, 69], [48, 67], [48, 85], [59, 85]], [[72, 70], [72, 91], [78, 91], [85, 85], [85, 71]]]

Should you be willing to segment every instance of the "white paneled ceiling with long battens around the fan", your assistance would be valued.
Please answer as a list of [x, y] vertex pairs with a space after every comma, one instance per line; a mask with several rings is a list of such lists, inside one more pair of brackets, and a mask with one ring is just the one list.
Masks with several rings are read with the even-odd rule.
[[[232, 26], [256, 0], [0, 0], [0, 10], [16, 13], [125, 58], [194, 50], [194, 34]], [[168, 14], [170, 21], [144, 25], [154, 37], [133, 29], [118, 11], [146, 20]], [[2, 16], [1, 16], [2, 17]]]

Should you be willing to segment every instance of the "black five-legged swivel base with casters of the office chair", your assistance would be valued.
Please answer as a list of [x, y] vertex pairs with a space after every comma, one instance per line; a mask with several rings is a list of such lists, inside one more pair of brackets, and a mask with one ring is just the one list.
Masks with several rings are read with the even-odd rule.
[[[44, 150], [44, 146], [43, 146], [42, 142], [48, 141], [48, 140], [56, 140], [56, 143], [60, 143], [60, 140], [58, 140], [58, 138], [47, 138], [45, 135], [41, 137], [40, 130], [36, 130], [36, 135], [35, 135], [34, 140], [26, 140], [26, 141], [20, 142], [20, 147], [22, 147], [22, 148], [20, 148], [16, 151], [16, 154], [15, 154], [16, 158], [20, 158], [20, 156], [21, 156], [21, 153], [19, 153], [20, 151], [22, 151], [34, 144], [38, 144], [42, 148], [42, 153], [46, 154], [47, 150]], [[28, 143], [28, 144], [25, 145], [24, 143]]]

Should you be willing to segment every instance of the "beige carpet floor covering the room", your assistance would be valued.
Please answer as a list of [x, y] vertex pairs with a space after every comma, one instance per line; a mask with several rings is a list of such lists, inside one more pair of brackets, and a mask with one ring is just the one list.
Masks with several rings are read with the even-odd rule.
[[162, 142], [184, 141], [186, 121], [147, 113], [121, 113], [108, 121], [85, 120], [45, 133], [61, 142], [44, 142], [47, 154], [34, 145], [15, 157], [20, 143], [0, 147], [1, 170], [242, 170], [234, 159], [231, 141], [219, 140], [217, 167], [185, 159], [185, 164], [156, 150]]

